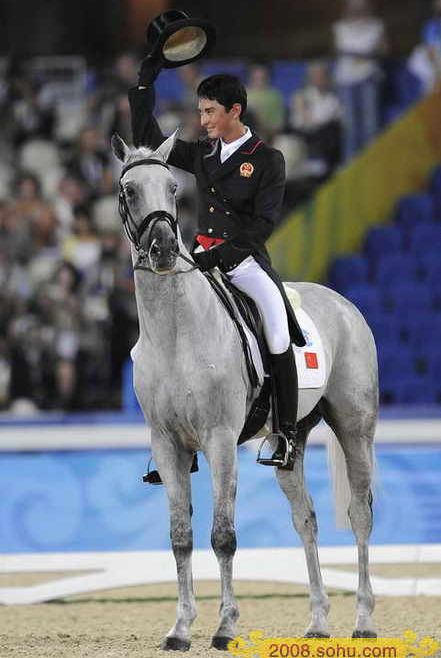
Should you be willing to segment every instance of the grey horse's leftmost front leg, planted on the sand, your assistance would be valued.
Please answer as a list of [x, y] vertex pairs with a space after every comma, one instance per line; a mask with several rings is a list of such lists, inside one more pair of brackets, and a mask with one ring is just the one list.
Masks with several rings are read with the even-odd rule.
[[190, 627], [196, 618], [193, 593], [191, 554], [190, 467], [193, 453], [184, 450], [166, 436], [152, 431], [152, 448], [159, 474], [165, 484], [170, 509], [170, 537], [178, 575], [178, 605], [176, 623], [167, 633], [161, 648], [188, 651], [191, 643]]

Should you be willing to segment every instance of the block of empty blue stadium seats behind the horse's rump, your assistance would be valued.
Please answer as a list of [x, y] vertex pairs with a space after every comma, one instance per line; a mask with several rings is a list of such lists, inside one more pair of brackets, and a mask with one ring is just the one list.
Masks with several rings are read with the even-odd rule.
[[339, 257], [329, 285], [370, 325], [384, 404], [441, 403], [441, 165], [427, 191], [397, 203], [393, 222], [373, 227], [363, 251]]

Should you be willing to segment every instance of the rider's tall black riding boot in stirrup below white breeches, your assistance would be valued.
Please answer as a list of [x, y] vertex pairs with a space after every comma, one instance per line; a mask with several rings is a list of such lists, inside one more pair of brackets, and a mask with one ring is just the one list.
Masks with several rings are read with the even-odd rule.
[[[292, 470], [294, 466], [294, 441], [297, 435], [297, 406], [299, 386], [296, 360], [292, 345], [283, 354], [271, 354], [271, 376], [275, 379], [280, 430], [287, 442], [279, 439], [271, 460], [280, 461], [279, 468]], [[287, 455], [288, 451], [288, 455]]]

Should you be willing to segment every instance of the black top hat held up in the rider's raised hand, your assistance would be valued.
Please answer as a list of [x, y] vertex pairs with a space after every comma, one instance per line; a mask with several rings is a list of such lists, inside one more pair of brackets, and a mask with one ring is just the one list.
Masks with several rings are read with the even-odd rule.
[[164, 68], [176, 68], [203, 57], [216, 42], [216, 30], [208, 21], [171, 9], [147, 26], [146, 38], [150, 54], [160, 56]]

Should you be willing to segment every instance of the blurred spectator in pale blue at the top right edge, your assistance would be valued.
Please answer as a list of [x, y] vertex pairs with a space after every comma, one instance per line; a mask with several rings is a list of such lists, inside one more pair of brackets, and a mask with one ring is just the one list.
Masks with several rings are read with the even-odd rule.
[[423, 25], [421, 43], [409, 58], [409, 69], [430, 93], [441, 82], [441, 0], [434, 0], [432, 17]]

